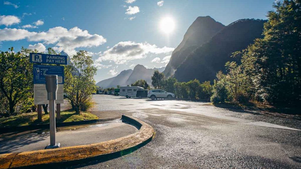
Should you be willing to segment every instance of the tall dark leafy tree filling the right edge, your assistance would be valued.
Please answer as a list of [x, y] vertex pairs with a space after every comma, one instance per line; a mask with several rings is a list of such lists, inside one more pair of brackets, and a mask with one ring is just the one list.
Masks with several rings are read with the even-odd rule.
[[254, 82], [252, 91], [270, 104], [301, 103], [301, 5], [278, 1], [268, 12], [262, 39], [242, 56], [242, 69]]

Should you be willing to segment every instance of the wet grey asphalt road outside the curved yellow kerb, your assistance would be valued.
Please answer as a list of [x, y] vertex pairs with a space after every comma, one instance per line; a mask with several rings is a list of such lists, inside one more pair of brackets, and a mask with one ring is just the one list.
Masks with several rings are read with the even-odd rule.
[[[71, 168], [301, 168], [301, 121], [206, 102], [94, 95], [95, 110], [116, 110], [156, 131], [140, 149]], [[99, 159], [101, 160], [101, 159]]]

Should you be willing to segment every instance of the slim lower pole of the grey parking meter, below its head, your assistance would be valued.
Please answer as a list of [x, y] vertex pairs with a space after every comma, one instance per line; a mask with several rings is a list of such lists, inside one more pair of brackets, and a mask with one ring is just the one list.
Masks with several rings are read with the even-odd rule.
[[50, 146], [55, 146], [55, 104], [54, 100], [49, 100], [49, 124], [50, 124]]

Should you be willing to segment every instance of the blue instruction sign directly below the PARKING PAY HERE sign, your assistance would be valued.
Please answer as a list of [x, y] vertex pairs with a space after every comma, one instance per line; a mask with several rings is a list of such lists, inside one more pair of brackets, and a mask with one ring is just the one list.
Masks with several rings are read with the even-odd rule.
[[64, 84], [64, 66], [33, 65], [33, 84], [46, 84], [45, 75], [57, 75], [57, 83]]

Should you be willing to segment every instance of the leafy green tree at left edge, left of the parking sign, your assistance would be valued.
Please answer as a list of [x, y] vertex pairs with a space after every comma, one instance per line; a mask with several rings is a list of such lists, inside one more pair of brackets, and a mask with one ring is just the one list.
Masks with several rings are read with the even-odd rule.
[[1, 97], [8, 104], [5, 116], [16, 115], [16, 105], [31, 98], [33, 93], [32, 64], [28, 56], [21, 52], [15, 53], [13, 47], [9, 50], [0, 54]]

